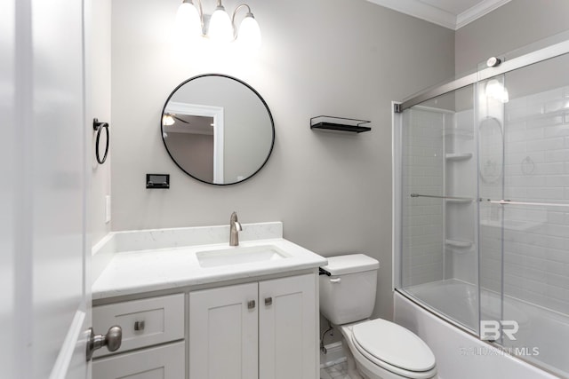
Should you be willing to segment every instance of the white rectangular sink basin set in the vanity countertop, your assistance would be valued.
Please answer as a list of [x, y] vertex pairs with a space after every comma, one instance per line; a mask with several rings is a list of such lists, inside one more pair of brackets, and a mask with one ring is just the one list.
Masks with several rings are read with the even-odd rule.
[[198, 251], [196, 257], [202, 267], [217, 267], [274, 261], [290, 257], [290, 255], [276, 246], [262, 245]]

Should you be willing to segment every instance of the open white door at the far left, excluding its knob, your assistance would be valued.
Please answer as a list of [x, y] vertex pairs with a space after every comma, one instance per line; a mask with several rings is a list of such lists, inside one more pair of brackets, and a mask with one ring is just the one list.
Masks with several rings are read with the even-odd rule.
[[83, 1], [0, 0], [0, 9], [2, 376], [84, 379]]

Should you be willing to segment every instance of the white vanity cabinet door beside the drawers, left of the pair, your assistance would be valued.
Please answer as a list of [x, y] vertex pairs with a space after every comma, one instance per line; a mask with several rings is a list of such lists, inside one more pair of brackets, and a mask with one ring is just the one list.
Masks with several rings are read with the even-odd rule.
[[258, 377], [257, 283], [189, 293], [189, 378]]

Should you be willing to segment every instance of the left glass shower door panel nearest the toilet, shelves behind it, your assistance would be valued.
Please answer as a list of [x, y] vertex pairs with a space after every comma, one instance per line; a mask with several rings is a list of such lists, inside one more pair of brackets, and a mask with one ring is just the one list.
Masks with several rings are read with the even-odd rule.
[[400, 288], [477, 332], [474, 86], [405, 109]]

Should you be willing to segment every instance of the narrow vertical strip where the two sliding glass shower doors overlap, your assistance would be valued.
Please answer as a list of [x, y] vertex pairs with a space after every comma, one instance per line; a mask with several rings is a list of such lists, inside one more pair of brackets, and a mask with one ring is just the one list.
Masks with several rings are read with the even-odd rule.
[[480, 337], [501, 342], [503, 304], [504, 75], [477, 83]]

